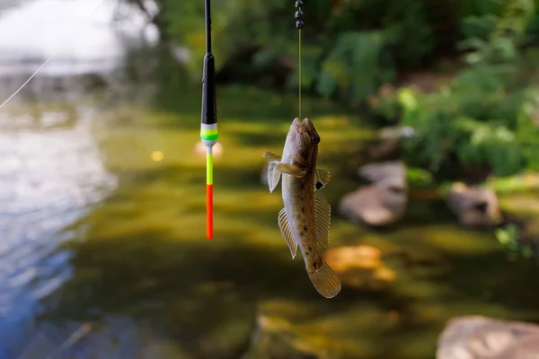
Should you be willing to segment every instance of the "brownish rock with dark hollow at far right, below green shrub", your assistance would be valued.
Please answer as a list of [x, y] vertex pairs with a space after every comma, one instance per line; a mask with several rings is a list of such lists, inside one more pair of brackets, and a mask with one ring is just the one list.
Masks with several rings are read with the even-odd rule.
[[447, 206], [464, 226], [490, 227], [502, 221], [498, 197], [489, 188], [455, 183], [447, 195]]

